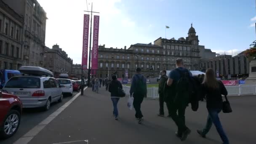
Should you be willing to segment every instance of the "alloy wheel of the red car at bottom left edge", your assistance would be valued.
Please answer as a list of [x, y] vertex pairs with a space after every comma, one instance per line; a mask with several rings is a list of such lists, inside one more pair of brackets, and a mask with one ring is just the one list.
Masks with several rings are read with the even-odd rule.
[[3, 126], [0, 128], [0, 138], [7, 139], [12, 136], [19, 128], [21, 114], [16, 110], [11, 110], [3, 120]]

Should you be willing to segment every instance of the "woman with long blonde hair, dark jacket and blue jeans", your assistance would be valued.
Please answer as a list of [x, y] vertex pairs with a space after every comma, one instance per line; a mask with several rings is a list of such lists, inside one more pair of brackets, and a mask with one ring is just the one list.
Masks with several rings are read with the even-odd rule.
[[205, 128], [197, 133], [205, 138], [205, 135], [210, 131], [212, 124], [215, 125], [223, 144], [229, 144], [226, 133], [224, 132], [221, 122], [219, 120], [219, 112], [222, 110], [222, 96], [227, 96], [227, 89], [223, 83], [216, 80], [213, 69], [207, 69], [202, 84], [202, 95], [206, 98], [206, 107], [208, 110], [208, 118]]

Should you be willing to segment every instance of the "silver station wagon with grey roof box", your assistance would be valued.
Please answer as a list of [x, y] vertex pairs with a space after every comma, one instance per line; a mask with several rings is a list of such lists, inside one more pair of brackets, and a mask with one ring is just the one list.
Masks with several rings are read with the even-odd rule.
[[19, 96], [23, 107], [43, 107], [49, 110], [51, 103], [63, 99], [61, 85], [52, 72], [42, 67], [22, 66], [23, 75], [12, 77], [2, 92]]

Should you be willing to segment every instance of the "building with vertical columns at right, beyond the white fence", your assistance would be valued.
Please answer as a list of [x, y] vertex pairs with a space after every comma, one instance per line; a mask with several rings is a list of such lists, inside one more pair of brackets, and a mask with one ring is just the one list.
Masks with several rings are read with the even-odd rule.
[[216, 76], [228, 77], [248, 77], [249, 61], [245, 57], [244, 52], [237, 56], [220, 55], [215, 58], [202, 59], [200, 61], [200, 69], [205, 71], [212, 68], [216, 72]]

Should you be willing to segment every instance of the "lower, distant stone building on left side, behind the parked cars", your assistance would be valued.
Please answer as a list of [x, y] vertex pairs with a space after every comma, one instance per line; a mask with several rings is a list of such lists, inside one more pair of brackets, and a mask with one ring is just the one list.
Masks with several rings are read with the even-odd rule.
[[68, 57], [65, 51], [62, 51], [62, 48], [59, 48], [59, 45], [53, 45], [52, 49], [45, 48], [43, 67], [53, 72], [54, 77], [61, 73], [71, 74], [72, 64], [73, 60]]

